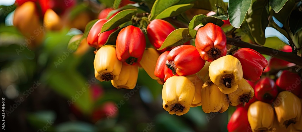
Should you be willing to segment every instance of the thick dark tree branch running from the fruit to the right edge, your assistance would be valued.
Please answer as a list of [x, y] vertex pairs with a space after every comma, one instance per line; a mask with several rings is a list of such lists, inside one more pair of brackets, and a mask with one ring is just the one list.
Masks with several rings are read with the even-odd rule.
[[295, 63], [296, 65], [302, 66], [302, 57], [297, 56], [293, 53], [283, 52], [280, 50], [275, 50], [275, 49], [263, 47], [260, 45], [246, 43], [241, 40], [235, 40], [233, 38], [228, 38], [228, 37], [226, 37], [226, 43], [237, 46], [237, 47], [241, 47], [241, 48], [251, 48], [253, 50], [258, 51], [259, 53], [273, 56], [273, 57], [276, 57], [276, 58], [279, 58], [282, 60], [286, 60], [291, 63]]

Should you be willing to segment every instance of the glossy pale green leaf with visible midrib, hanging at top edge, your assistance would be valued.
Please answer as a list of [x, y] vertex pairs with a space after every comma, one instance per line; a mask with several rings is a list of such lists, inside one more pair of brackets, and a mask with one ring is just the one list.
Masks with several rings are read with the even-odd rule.
[[241, 26], [251, 3], [252, 0], [229, 0], [227, 12], [233, 27], [239, 28]]

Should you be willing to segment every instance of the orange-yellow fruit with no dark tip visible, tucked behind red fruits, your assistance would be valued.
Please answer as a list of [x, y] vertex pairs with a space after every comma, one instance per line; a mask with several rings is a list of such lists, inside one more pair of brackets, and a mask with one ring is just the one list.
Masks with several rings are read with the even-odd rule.
[[159, 53], [155, 49], [148, 48], [144, 51], [142, 60], [140, 60], [140, 65], [147, 72], [147, 74], [154, 80], [158, 79], [158, 77], [154, 75], [158, 57], [159, 57]]

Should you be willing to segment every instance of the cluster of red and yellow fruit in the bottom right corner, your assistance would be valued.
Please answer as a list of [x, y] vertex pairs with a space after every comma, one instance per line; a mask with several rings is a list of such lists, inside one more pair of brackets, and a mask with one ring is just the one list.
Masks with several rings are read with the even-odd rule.
[[229, 121], [228, 130], [302, 131], [301, 81], [301, 76], [297, 73], [283, 70], [279, 71], [275, 81], [264, 77], [257, 82], [249, 82], [255, 89], [255, 96], [236, 109]]

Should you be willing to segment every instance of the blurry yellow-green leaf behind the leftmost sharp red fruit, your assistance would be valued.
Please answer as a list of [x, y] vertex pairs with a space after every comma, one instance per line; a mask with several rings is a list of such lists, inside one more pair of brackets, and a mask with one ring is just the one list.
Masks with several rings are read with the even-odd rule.
[[84, 31], [84, 33], [83, 33], [83, 36], [82, 36], [79, 40], [76, 40], [76, 41], [74, 41], [74, 42], [72, 42], [72, 43], [69, 43], [69, 44], [67, 45], [67, 49], [72, 49], [72, 51], [76, 51], [76, 50], [78, 49], [80, 43], [82, 42], [82, 40], [85, 39], [85, 38], [88, 36], [88, 33], [89, 33], [91, 27], [92, 27], [92, 26], [95, 24], [95, 22], [97, 22], [97, 21], [98, 21], [98, 19], [90, 21], [90, 22], [86, 25], [86, 27], [85, 27], [85, 31]]

